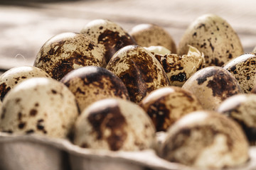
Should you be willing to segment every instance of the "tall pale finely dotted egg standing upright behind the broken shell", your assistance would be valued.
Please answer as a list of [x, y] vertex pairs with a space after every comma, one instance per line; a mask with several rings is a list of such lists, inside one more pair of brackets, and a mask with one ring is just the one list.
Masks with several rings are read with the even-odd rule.
[[178, 44], [178, 55], [196, 47], [206, 57], [206, 66], [223, 66], [244, 53], [240, 38], [230, 24], [220, 16], [205, 14], [196, 18]]

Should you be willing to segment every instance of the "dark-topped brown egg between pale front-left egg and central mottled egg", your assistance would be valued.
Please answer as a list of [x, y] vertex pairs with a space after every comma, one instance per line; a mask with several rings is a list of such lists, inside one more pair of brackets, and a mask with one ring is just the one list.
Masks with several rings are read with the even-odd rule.
[[129, 100], [126, 86], [109, 70], [87, 66], [75, 69], [60, 80], [73, 92], [80, 111], [103, 98], [124, 98]]

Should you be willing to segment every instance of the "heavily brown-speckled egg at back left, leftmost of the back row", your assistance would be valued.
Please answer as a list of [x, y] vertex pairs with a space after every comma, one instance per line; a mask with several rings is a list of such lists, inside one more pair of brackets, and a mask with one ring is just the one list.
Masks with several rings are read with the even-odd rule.
[[80, 33], [53, 36], [41, 47], [34, 62], [35, 67], [57, 80], [73, 69], [89, 65], [105, 67], [105, 58], [100, 47]]

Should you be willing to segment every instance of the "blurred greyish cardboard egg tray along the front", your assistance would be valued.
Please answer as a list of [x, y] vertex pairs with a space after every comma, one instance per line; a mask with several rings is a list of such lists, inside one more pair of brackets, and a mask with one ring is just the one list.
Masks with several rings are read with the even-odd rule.
[[[40, 135], [10, 135], [4, 132], [0, 132], [0, 169], [196, 170], [167, 162], [151, 149], [142, 152], [110, 152], [80, 148], [65, 139]], [[252, 169], [256, 169], [256, 147], [250, 147], [250, 162], [232, 170]]]

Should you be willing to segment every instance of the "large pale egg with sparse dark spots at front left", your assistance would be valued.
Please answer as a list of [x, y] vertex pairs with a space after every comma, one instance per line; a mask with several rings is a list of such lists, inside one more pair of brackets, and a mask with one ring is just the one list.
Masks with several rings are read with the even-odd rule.
[[67, 137], [78, 106], [72, 92], [59, 81], [31, 78], [6, 94], [0, 115], [1, 132]]

